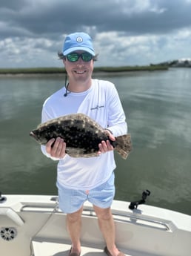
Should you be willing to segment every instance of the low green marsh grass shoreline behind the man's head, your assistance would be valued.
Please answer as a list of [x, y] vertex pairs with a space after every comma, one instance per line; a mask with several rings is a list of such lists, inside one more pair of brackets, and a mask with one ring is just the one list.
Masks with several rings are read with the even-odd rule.
[[[152, 65], [152, 66], [128, 66], [128, 67], [95, 67], [93, 75], [123, 75], [135, 71], [155, 71], [155, 70], [168, 70], [167, 66]], [[64, 76], [64, 68], [0, 68], [1, 76]]]

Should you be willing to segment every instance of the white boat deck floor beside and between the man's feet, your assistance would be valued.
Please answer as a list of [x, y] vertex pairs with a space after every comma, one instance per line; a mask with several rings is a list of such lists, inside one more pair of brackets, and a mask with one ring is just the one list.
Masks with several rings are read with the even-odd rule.
[[[70, 251], [69, 244], [33, 241], [34, 256], [67, 256]], [[81, 256], [107, 256], [104, 249], [81, 246]], [[127, 255], [130, 256], [130, 255]]]

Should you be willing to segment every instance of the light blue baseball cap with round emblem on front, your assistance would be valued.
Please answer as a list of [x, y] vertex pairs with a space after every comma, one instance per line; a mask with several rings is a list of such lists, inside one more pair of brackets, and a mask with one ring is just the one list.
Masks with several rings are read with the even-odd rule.
[[95, 56], [91, 37], [84, 32], [71, 33], [64, 41], [63, 54], [72, 53], [75, 50], [84, 50]]

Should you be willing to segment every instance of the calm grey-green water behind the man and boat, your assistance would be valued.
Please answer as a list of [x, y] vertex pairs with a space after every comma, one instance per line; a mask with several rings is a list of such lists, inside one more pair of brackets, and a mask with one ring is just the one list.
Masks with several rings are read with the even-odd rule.
[[[115, 154], [115, 199], [139, 200], [149, 189], [148, 204], [191, 214], [191, 69], [102, 79], [115, 83], [133, 139], [127, 160]], [[3, 194], [57, 194], [56, 162], [29, 133], [44, 99], [63, 85], [64, 76], [0, 77]]]

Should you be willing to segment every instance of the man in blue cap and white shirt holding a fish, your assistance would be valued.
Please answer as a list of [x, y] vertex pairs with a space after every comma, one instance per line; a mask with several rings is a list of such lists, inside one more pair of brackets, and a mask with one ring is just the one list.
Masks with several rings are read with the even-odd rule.
[[[90, 36], [86, 33], [68, 35], [59, 56], [67, 71], [68, 83], [44, 102], [41, 121], [83, 113], [106, 128], [110, 140], [127, 134], [125, 115], [115, 86], [111, 82], [92, 79], [96, 54]], [[113, 146], [108, 140], [102, 141], [98, 148], [98, 157], [73, 158], [65, 153], [66, 143], [60, 137], [41, 146], [47, 157], [59, 161], [59, 208], [67, 214], [67, 230], [72, 242], [70, 256], [81, 253], [81, 212], [85, 200], [93, 203], [107, 245], [104, 252], [110, 256], [124, 255], [115, 246], [115, 226], [110, 210], [115, 194]]]

